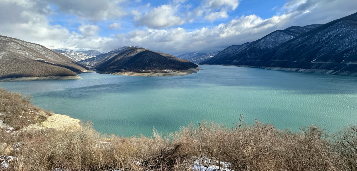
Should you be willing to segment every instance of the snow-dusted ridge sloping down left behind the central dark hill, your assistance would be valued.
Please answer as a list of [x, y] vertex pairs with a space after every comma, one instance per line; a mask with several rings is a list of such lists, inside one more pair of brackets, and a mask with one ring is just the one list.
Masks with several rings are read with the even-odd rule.
[[139, 46], [123, 46], [121, 48], [117, 48], [115, 50], [112, 50], [108, 53], [102, 53], [100, 55], [97, 55], [95, 57], [91, 57], [88, 59], [84, 59], [81, 61], [78, 61], [81, 64], [84, 64], [86, 66], [95, 66], [97, 64], [100, 64], [101, 62], [105, 61], [106, 59], [110, 59], [112, 57], [114, 57], [115, 55], [118, 55], [120, 52], [130, 49], [130, 48], [141, 48]]

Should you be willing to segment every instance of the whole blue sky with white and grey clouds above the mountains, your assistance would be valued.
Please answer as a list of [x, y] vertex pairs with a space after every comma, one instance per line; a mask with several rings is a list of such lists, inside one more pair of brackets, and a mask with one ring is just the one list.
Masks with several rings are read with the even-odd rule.
[[0, 35], [51, 49], [216, 52], [357, 12], [357, 0], [0, 0]]

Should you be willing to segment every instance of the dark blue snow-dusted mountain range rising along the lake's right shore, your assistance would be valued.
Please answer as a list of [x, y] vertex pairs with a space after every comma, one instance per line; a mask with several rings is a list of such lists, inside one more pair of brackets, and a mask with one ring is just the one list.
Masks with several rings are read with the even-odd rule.
[[321, 26], [286, 30], [299, 35], [276, 31], [237, 53], [222, 51], [204, 63], [357, 76], [357, 12]]

